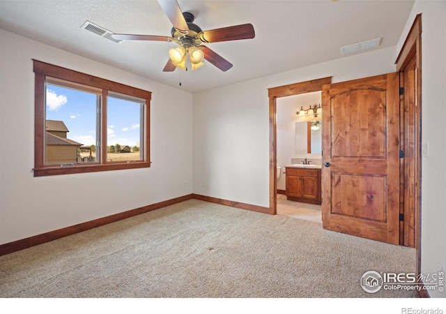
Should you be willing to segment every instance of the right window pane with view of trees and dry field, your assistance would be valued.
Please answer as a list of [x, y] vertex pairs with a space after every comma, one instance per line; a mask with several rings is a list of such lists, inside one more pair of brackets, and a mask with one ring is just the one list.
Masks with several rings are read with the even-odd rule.
[[107, 97], [107, 161], [143, 160], [141, 134], [145, 100], [112, 94]]

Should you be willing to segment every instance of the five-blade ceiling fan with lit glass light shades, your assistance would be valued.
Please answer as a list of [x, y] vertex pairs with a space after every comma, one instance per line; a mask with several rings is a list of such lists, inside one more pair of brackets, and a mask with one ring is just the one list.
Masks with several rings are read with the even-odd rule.
[[232, 64], [211, 50], [203, 43], [217, 43], [219, 41], [240, 40], [254, 38], [254, 27], [252, 24], [240, 24], [221, 29], [202, 31], [194, 24], [194, 15], [182, 12], [176, 0], [158, 0], [162, 10], [174, 25], [171, 36], [134, 35], [123, 33], [112, 33], [116, 40], [155, 40], [174, 41], [179, 47], [169, 50], [169, 61], [164, 66], [164, 72], [174, 71], [176, 68], [187, 70], [187, 59], [192, 70], [203, 66], [203, 59], [209, 61], [222, 71], [232, 68]]

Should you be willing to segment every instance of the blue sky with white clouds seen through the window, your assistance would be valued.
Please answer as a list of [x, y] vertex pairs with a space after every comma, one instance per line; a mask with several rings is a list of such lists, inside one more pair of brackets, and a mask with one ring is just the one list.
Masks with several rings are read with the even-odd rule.
[[[96, 95], [47, 84], [46, 119], [67, 126], [67, 137], [84, 145], [96, 144]], [[107, 145], [139, 146], [140, 105], [109, 97]]]

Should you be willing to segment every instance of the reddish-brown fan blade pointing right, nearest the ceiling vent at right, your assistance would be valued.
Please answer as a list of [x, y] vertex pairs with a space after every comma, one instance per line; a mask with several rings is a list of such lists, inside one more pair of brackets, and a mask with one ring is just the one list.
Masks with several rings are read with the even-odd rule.
[[203, 43], [217, 43], [218, 41], [254, 38], [255, 35], [252, 24], [241, 24], [233, 27], [201, 31], [198, 37]]

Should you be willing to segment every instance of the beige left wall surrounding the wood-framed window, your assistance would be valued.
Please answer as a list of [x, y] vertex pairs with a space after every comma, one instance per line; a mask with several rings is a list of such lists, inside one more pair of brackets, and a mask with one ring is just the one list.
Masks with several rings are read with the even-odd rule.
[[[0, 142], [15, 148], [0, 150], [0, 244], [192, 193], [192, 94], [1, 29], [0, 42]], [[33, 177], [32, 59], [151, 91], [151, 167]]]

